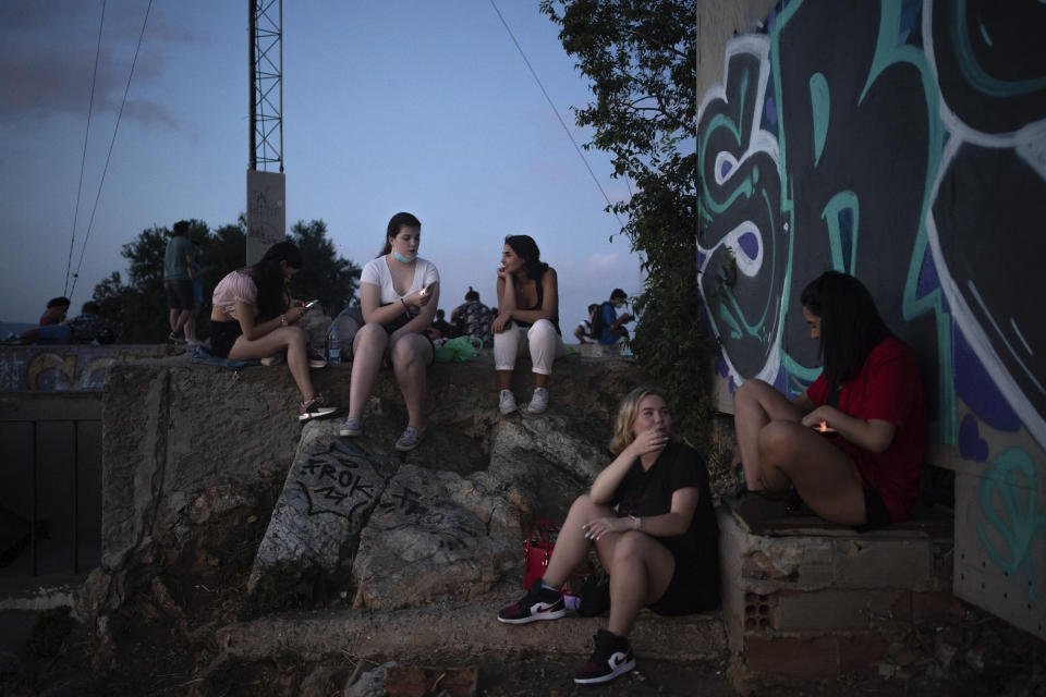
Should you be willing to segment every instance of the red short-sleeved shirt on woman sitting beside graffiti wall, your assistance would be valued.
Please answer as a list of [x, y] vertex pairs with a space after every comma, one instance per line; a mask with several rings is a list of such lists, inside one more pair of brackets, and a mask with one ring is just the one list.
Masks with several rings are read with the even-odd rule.
[[[828, 401], [822, 374], [806, 390], [820, 406]], [[919, 474], [926, 455], [926, 409], [923, 381], [911, 350], [897, 339], [884, 339], [865, 358], [860, 372], [842, 386], [839, 409], [861, 419], [879, 419], [897, 427], [881, 453], [869, 453], [841, 436], [831, 442], [854, 463], [866, 489], [883, 499], [893, 521], [908, 519], [919, 498]]]

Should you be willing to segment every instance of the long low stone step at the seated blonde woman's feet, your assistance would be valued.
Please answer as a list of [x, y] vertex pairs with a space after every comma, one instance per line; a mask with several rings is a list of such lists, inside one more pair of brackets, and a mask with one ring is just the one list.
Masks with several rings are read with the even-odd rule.
[[[309, 660], [341, 651], [367, 659], [428, 651], [587, 656], [592, 636], [606, 626], [603, 617], [576, 616], [523, 626], [502, 624], [496, 613], [506, 600], [438, 602], [391, 612], [281, 615], [221, 627], [216, 638], [221, 651], [248, 661], [283, 649]], [[630, 638], [637, 657], [654, 660], [709, 659], [726, 649], [718, 612], [662, 617], [644, 610]]]

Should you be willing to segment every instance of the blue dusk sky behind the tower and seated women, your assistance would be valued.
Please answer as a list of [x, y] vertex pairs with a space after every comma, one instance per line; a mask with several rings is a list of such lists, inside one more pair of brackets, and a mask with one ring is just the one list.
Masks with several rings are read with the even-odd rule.
[[[496, 2], [586, 142], [570, 108], [593, 97], [558, 26], [537, 0]], [[214, 230], [245, 209], [247, 2], [154, 2], [88, 236], [148, 4], [105, 4], [77, 213], [102, 2], [0, 3], [0, 320], [35, 322], [62, 294], [74, 217], [75, 313], [110, 272], [126, 281], [120, 247], [143, 230]], [[509, 233], [532, 235], [558, 270], [564, 337], [615, 286], [641, 290], [638, 257], [489, 0], [285, 2], [283, 102], [288, 227], [326, 221], [360, 266], [406, 210], [448, 310], [469, 285], [496, 303]], [[629, 196], [607, 155], [585, 157], [611, 199]]]

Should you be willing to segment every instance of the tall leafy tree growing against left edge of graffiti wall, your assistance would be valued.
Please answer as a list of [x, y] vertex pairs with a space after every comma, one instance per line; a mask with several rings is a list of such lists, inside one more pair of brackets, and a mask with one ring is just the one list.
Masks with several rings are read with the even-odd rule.
[[696, 436], [713, 355], [696, 281], [696, 0], [543, 0], [540, 10], [592, 80], [595, 102], [574, 108], [579, 125], [595, 127], [585, 148], [610, 152], [613, 176], [635, 185], [608, 206], [645, 255], [633, 351], [668, 391], [681, 430]]

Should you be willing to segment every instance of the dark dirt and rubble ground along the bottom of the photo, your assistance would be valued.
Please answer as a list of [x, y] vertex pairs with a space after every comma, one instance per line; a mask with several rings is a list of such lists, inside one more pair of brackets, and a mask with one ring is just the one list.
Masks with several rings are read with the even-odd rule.
[[[267, 496], [275, 497], [277, 486], [272, 482]], [[257, 661], [229, 658], [216, 643], [216, 631], [258, 611], [245, 594], [254, 552], [267, 525], [266, 494], [256, 499], [262, 502], [257, 509], [208, 521], [209, 529], [197, 537], [203, 541], [155, 568], [141, 570], [137, 590], [102, 625], [78, 624], [62, 611], [40, 615], [19, 660], [0, 667], [2, 694], [381, 695], [389, 662], [442, 672], [473, 669], [476, 694], [489, 696], [735, 694], [728, 680], [727, 656], [685, 663], [641, 658], [636, 672], [601, 687], [572, 683], [583, 657], [550, 657], [533, 650], [462, 655], [446, 647], [431, 655], [367, 659], [342, 653], [306, 660], [293, 651]], [[281, 595], [288, 604], [344, 603], [339, 597], [324, 597], [325, 589], [308, 578], [296, 583]], [[499, 604], [498, 598], [490, 599], [491, 613]], [[890, 648], [890, 656], [888, 663], [872, 672], [791, 685], [752, 685], [750, 694], [1046, 696], [1046, 643], [959, 600], [948, 622], [912, 631]], [[439, 694], [438, 689], [439, 685], [427, 694]]]

